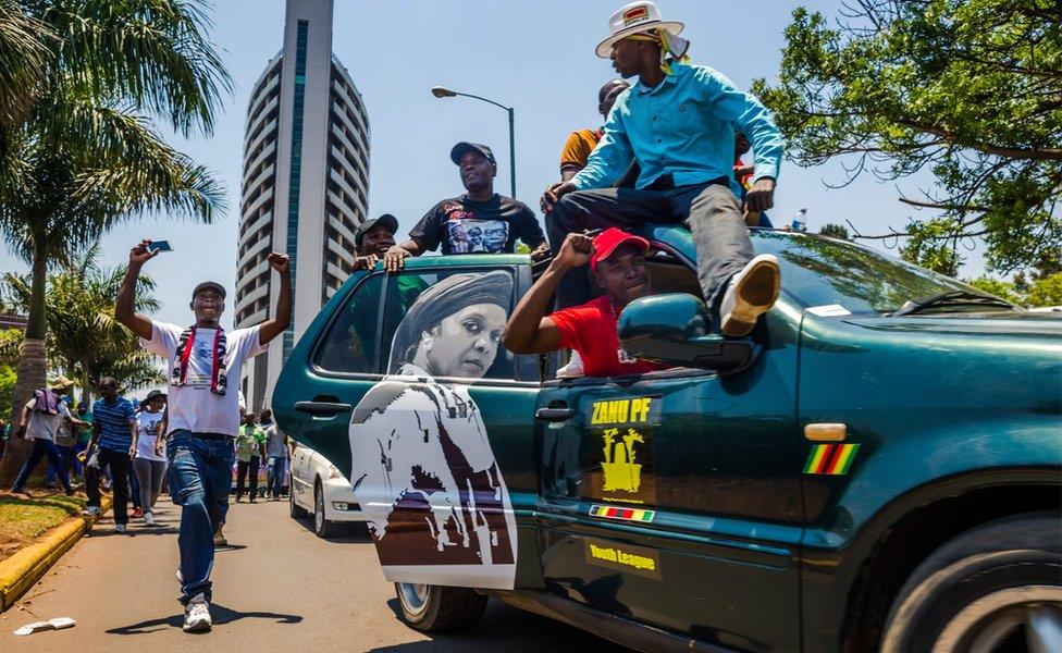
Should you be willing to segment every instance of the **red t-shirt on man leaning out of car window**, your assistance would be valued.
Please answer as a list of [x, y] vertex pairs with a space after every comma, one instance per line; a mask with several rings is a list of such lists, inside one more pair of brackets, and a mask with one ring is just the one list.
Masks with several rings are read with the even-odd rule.
[[665, 370], [666, 365], [638, 360], [619, 346], [616, 335], [618, 318], [608, 295], [582, 306], [573, 306], [549, 316], [560, 332], [560, 346], [579, 352], [588, 377], [620, 377]]

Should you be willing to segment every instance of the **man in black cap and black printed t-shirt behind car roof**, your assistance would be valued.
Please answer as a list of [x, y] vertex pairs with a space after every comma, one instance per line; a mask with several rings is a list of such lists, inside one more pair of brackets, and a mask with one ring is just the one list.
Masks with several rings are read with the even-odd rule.
[[516, 242], [531, 247], [531, 257], [549, 252], [539, 221], [522, 201], [494, 193], [497, 163], [491, 148], [458, 143], [449, 158], [460, 169], [468, 193], [444, 199], [421, 218], [409, 239], [384, 255], [388, 271], [399, 270], [407, 256], [420, 256], [442, 246], [443, 254], [511, 254]]

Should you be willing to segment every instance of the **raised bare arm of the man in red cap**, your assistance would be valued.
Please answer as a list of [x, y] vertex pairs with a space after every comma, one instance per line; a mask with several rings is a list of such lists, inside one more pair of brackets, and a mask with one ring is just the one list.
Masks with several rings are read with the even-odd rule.
[[547, 354], [560, 347], [560, 332], [554, 321], [545, 317], [549, 301], [564, 275], [572, 268], [590, 262], [594, 243], [583, 234], [568, 234], [560, 251], [520, 298], [505, 325], [502, 344], [514, 354]]

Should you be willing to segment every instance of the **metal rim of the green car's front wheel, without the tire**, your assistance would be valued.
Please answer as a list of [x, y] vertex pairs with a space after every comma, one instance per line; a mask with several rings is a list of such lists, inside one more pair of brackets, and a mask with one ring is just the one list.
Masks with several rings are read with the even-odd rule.
[[1023, 634], [1030, 653], [1062, 651], [1060, 592], [1058, 586], [1026, 586], [980, 596], [944, 625], [933, 651], [987, 653]]

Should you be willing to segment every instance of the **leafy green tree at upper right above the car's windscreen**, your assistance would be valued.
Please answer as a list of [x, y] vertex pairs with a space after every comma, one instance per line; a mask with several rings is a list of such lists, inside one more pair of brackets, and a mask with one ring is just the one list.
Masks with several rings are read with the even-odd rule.
[[926, 170], [934, 212], [903, 231], [904, 258], [954, 274], [986, 244], [1010, 273], [1058, 249], [1062, 219], [1062, 21], [1057, 0], [852, 0], [837, 21], [793, 12], [776, 84], [755, 91], [799, 165], [845, 160], [851, 181]]

